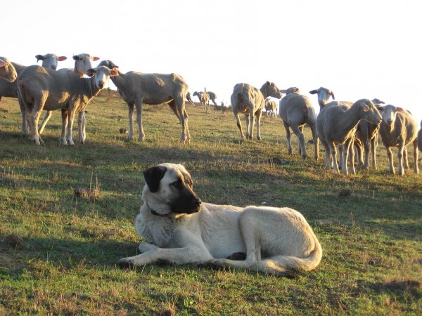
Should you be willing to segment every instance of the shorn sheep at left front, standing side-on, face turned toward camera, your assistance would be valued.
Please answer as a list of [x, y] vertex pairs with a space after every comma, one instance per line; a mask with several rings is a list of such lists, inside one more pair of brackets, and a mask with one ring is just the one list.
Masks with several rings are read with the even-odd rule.
[[104, 88], [106, 82], [117, 74], [108, 67], [88, 70], [91, 78], [77, 74], [56, 72], [37, 65], [25, 67], [18, 76], [18, 94], [25, 105], [30, 121], [31, 137], [35, 145], [44, 145], [38, 132], [38, 120], [42, 110], [62, 110], [60, 143], [74, 145], [72, 124], [75, 113], [81, 112], [89, 101]]

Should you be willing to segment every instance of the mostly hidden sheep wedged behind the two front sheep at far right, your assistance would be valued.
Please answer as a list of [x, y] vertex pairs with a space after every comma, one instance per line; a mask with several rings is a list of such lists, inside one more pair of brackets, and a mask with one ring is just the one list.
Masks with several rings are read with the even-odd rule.
[[[373, 99], [372, 103], [378, 108], [384, 104], [379, 99]], [[361, 119], [357, 124], [356, 135], [354, 137], [354, 147], [357, 152], [357, 167], [369, 169], [369, 154], [371, 154], [372, 168], [377, 169], [376, 166], [376, 145], [378, 143], [378, 131], [380, 124], [372, 124], [366, 119]], [[365, 159], [364, 154], [365, 152]], [[364, 161], [365, 160], [365, 161]]]

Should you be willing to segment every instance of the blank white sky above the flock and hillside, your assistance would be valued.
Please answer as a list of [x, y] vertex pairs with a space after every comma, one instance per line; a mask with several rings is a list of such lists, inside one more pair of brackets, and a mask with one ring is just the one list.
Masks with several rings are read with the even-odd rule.
[[260, 88], [269, 80], [300, 88], [316, 112], [309, 91], [324, 86], [336, 100], [379, 98], [410, 110], [418, 124], [422, 119], [417, 0], [6, 0], [1, 6], [0, 55], [23, 65], [56, 53], [68, 57], [59, 68], [73, 67], [72, 55], [90, 53], [122, 72], [176, 72], [192, 93], [206, 87], [218, 103], [229, 104], [239, 82]]

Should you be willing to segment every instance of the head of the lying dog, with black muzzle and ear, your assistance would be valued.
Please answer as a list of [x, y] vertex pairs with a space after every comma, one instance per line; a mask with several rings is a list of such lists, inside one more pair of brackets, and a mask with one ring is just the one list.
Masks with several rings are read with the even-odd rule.
[[200, 199], [193, 192], [191, 175], [181, 164], [160, 164], [143, 171], [142, 199], [153, 213], [196, 213]]

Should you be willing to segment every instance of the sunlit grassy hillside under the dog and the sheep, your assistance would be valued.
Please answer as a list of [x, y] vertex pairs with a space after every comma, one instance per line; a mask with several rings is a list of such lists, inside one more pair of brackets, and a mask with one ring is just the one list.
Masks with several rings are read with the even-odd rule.
[[[0, 315], [422, 314], [422, 176], [388, 174], [381, 145], [378, 170], [343, 176], [324, 169], [322, 149], [319, 162], [300, 159], [294, 136], [288, 156], [279, 118], [263, 117], [262, 141], [243, 141], [231, 112], [188, 106], [192, 142], [181, 145], [165, 105], [144, 107], [143, 143], [119, 133], [128, 125], [120, 98], [100, 96], [87, 110], [85, 145], [58, 144], [54, 112], [37, 147], [20, 135], [16, 100], [1, 100], [0, 240], [25, 244], [0, 242]], [[191, 265], [120, 270], [140, 241], [141, 171], [162, 162], [184, 164], [205, 202], [297, 209], [323, 246], [321, 264], [295, 279]], [[96, 185], [98, 198], [73, 194]], [[338, 195], [345, 189], [350, 197]]]

